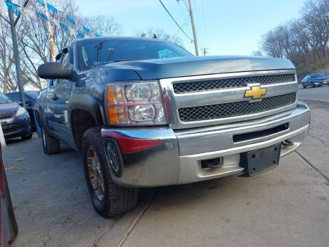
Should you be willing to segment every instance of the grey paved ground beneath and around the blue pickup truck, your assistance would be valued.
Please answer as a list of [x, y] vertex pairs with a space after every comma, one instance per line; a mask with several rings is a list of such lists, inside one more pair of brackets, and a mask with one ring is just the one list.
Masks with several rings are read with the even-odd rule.
[[93, 210], [77, 152], [46, 156], [38, 137], [10, 143], [3, 161], [17, 168], [6, 173], [19, 224], [12, 246], [328, 246], [329, 86], [320, 89], [300, 90], [312, 99], [310, 135], [276, 169], [143, 189], [138, 208], [117, 219]]

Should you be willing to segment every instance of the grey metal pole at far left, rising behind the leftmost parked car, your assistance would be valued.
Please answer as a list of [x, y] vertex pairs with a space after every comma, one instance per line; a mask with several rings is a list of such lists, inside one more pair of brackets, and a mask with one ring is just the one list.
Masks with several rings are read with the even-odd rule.
[[[12, 2], [8, 0], [8, 2]], [[17, 84], [19, 84], [19, 95], [21, 96], [21, 102], [23, 107], [25, 108], [25, 97], [24, 97], [24, 88], [23, 88], [23, 78], [21, 71], [21, 61], [19, 60], [19, 45], [17, 45], [17, 34], [16, 27], [14, 25], [14, 14], [8, 9], [8, 16], [10, 22], [10, 31], [12, 32], [12, 51], [14, 53], [14, 60], [16, 66], [16, 76], [17, 76]]]

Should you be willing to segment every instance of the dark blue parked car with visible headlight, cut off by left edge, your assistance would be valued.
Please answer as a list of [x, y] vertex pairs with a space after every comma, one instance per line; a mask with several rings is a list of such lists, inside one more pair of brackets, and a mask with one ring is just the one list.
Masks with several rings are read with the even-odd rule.
[[3, 93], [0, 93], [0, 122], [5, 138], [31, 139], [33, 130], [29, 113]]

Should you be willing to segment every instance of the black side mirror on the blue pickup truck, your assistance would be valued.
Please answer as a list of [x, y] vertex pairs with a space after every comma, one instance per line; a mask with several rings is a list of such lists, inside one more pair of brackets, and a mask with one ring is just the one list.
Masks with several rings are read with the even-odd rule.
[[47, 62], [38, 67], [38, 76], [42, 79], [70, 79], [71, 69], [65, 69], [60, 62]]

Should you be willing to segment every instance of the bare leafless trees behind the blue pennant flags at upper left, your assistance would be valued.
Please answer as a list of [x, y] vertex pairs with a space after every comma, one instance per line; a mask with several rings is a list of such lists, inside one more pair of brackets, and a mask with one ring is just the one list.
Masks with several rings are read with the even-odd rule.
[[[22, 3], [23, 0], [19, 0], [19, 4], [22, 5]], [[123, 32], [123, 25], [117, 23], [112, 17], [81, 17], [74, 1], [50, 0], [50, 3], [56, 5], [58, 13], [49, 12], [48, 20], [36, 14], [36, 12], [45, 13], [45, 8], [36, 1], [29, 1], [27, 10], [22, 10], [21, 18], [16, 25], [23, 84], [29, 84], [38, 89], [44, 88], [46, 84], [45, 80], [38, 78], [38, 66], [51, 60], [49, 23], [56, 52], [73, 43], [77, 39], [75, 29], [82, 30], [83, 25], [90, 28], [93, 33], [101, 34], [101, 36], [117, 36]], [[6, 93], [16, 91], [17, 84], [12, 56], [10, 25], [5, 21], [5, 18], [8, 18], [8, 10], [3, 1], [0, 3], [0, 13], [3, 16], [0, 17], [0, 89]], [[67, 15], [75, 19], [75, 27], [67, 23]], [[66, 23], [70, 27], [69, 32], [63, 30], [58, 25], [58, 21]]]

